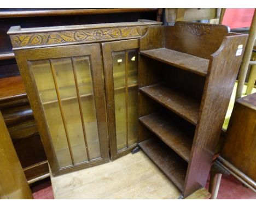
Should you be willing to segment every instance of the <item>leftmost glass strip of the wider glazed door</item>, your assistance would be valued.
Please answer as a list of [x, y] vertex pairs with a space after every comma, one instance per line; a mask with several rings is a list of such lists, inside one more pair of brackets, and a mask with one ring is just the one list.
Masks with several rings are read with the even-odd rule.
[[[57, 100], [49, 61], [30, 62], [30, 66], [42, 102]], [[68, 150], [59, 103], [51, 102], [45, 104], [43, 107], [59, 166], [60, 168], [70, 166], [72, 165], [72, 161]]]

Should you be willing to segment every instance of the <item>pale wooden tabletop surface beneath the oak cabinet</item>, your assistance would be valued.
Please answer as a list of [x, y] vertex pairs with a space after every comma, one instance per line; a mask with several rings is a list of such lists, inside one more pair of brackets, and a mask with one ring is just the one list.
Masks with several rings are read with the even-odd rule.
[[55, 199], [177, 199], [179, 189], [142, 152], [61, 176]]

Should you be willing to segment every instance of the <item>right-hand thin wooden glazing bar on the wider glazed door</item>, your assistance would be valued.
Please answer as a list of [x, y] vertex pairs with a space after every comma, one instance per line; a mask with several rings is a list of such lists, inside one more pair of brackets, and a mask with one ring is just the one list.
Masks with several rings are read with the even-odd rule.
[[81, 117], [82, 126], [83, 126], [84, 144], [85, 144], [85, 149], [86, 149], [86, 155], [87, 155], [88, 161], [90, 161], [90, 155], [89, 155], [88, 143], [87, 143], [87, 139], [86, 139], [85, 125], [84, 125], [83, 109], [82, 109], [82, 104], [81, 104], [79, 87], [78, 87], [78, 83], [77, 83], [77, 70], [75, 69], [73, 57], [71, 58], [71, 62], [72, 62], [72, 68], [73, 68], [73, 73], [74, 73], [75, 89], [77, 90], [77, 99], [78, 99], [80, 117]]

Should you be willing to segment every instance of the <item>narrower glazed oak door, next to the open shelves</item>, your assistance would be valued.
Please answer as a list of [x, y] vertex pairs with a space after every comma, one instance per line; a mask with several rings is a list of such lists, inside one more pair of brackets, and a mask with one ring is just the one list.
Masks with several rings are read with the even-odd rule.
[[112, 160], [137, 144], [138, 47], [138, 39], [102, 43]]

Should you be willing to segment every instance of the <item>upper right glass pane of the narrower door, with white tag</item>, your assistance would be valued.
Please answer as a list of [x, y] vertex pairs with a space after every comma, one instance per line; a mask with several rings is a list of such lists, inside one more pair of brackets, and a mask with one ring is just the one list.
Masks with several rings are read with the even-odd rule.
[[138, 84], [138, 50], [128, 51], [128, 86]]

